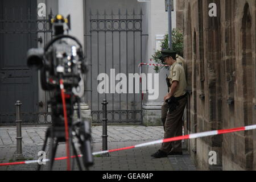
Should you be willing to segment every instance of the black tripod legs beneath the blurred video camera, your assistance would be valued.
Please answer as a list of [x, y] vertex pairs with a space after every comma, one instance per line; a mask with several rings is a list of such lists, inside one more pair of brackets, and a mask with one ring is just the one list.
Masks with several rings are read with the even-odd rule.
[[[56, 100], [52, 99], [51, 104], [55, 103]], [[56, 108], [58, 108], [56, 110]], [[73, 105], [72, 105], [73, 107]], [[92, 157], [92, 151], [91, 151], [91, 146], [90, 146], [90, 124], [88, 121], [82, 121], [81, 120], [81, 110], [80, 110], [80, 104], [78, 102], [78, 112], [77, 112], [77, 116], [78, 116], [78, 120], [73, 122], [72, 118], [70, 117], [70, 115], [73, 114], [73, 109], [72, 109], [71, 105], [69, 105], [69, 117], [68, 117], [68, 121], [69, 121], [69, 127], [68, 127], [68, 133], [69, 133], [69, 147], [68, 148], [72, 148], [73, 154], [75, 156], [67, 156], [67, 158], [69, 157], [69, 159], [71, 158], [75, 158], [76, 162], [77, 162], [77, 166], [79, 168], [80, 171], [82, 171], [82, 166], [79, 160], [79, 156], [77, 154], [77, 150], [75, 147], [75, 143], [73, 138], [76, 137], [76, 139], [78, 140], [77, 142], [80, 144], [80, 151], [82, 153], [82, 159], [83, 159], [83, 163], [84, 163], [84, 167], [86, 168], [86, 170], [88, 170], [89, 166], [93, 165], [93, 157]], [[67, 142], [66, 141], [66, 133], [65, 133], [65, 126], [61, 123], [64, 123], [64, 119], [62, 114], [59, 113], [60, 109], [60, 105], [56, 104], [53, 107], [53, 111], [52, 111], [52, 116], [53, 116], [53, 126], [49, 127], [46, 131], [46, 139], [44, 140], [44, 144], [43, 144], [43, 148], [42, 151], [46, 150], [46, 146], [47, 146], [47, 141], [48, 139], [50, 139], [50, 144], [49, 144], [49, 170], [52, 171], [52, 167], [53, 167], [53, 163], [55, 161], [55, 155], [56, 155], [56, 151], [57, 151], [57, 146], [59, 143], [61, 142]], [[57, 114], [60, 114], [57, 116]], [[74, 164], [74, 163], [73, 163]], [[41, 169], [42, 165], [38, 164], [38, 171]]]

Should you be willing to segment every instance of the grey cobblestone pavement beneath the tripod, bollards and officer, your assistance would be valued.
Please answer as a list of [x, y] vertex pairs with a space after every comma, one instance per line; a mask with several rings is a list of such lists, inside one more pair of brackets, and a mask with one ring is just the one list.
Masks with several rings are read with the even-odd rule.
[[[47, 127], [23, 127], [23, 155], [25, 160], [38, 159]], [[92, 127], [93, 151], [102, 150], [102, 127]], [[16, 151], [16, 128], [0, 127], [0, 163], [13, 162]], [[108, 149], [133, 146], [134, 144], [150, 142], [163, 138], [163, 128], [145, 126], [108, 126]], [[151, 154], [160, 148], [160, 144], [132, 150], [110, 153], [109, 157], [94, 156], [92, 171], [195, 171], [188, 153], [183, 156], [168, 156], [168, 158], [152, 159]], [[47, 147], [48, 151], [48, 147]], [[48, 154], [48, 152], [47, 152]], [[65, 144], [59, 144], [56, 157], [65, 156]], [[48, 155], [47, 155], [48, 157]], [[72, 159], [73, 160], [73, 159]], [[81, 159], [80, 159], [81, 161]], [[35, 170], [36, 164], [0, 167], [0, 170]], [[48, 166], [43, 166], [47, 170]], [[55, 162], [54, 170], [65, 170], [66, 160]], [[75, 165], [75, 169], [77, 169]]]

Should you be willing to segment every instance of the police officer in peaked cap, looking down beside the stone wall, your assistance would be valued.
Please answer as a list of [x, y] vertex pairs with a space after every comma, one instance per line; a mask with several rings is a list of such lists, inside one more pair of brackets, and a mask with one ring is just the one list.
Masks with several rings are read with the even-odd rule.
[[[185, 80], [184, 68], [176, 61], [176, 52], [167, 49], [161, 51], [160, 59], [171, 66], [170, 69], [170, 92], [164, 97], [168, 103], [168, 113], [164, 122], [164, 138], [172, 138], [182, 135], [182, 117], [187, 104], [187, 81]], [[163, 117], [163, 116], [162, 116]], [[152, 154], [152, 158], [163, 158], [167, 155], [182, 155], [181, 141], [163, 143], [160, 150]]]

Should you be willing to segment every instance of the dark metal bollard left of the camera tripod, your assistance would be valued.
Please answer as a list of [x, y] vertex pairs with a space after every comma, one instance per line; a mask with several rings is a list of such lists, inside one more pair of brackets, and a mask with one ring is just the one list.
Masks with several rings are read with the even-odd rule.
[[24, 156], [22, 154], [22, 130], [21, 130], [21, 113], [20, 106], [22, 103], [20, 101], [16, 101], [16, 152], [14, 155], [15, 160], [23, 160]]

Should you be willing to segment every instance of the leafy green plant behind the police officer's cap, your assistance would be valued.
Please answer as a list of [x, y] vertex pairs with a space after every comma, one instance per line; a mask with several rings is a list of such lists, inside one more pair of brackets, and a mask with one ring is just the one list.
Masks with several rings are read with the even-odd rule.
[[[168, 34], [164, 35], [164, 39], [161, 42], [161, 50], [168, 49]], [[179, 30], [172, 30], [172, 49], [177, 52], [178, 55], [183, 57], [183, 34]], [[157, 64], [164, 64], [161, 60], [157, 59], [160, 55], [160, 51], [157, 50], [154, 55], [152, 55], [152, 60]], [[169, 67], [155, 67], [154, 70], [156, 73], [159, 73], [161, 69], [169, 69]]]

